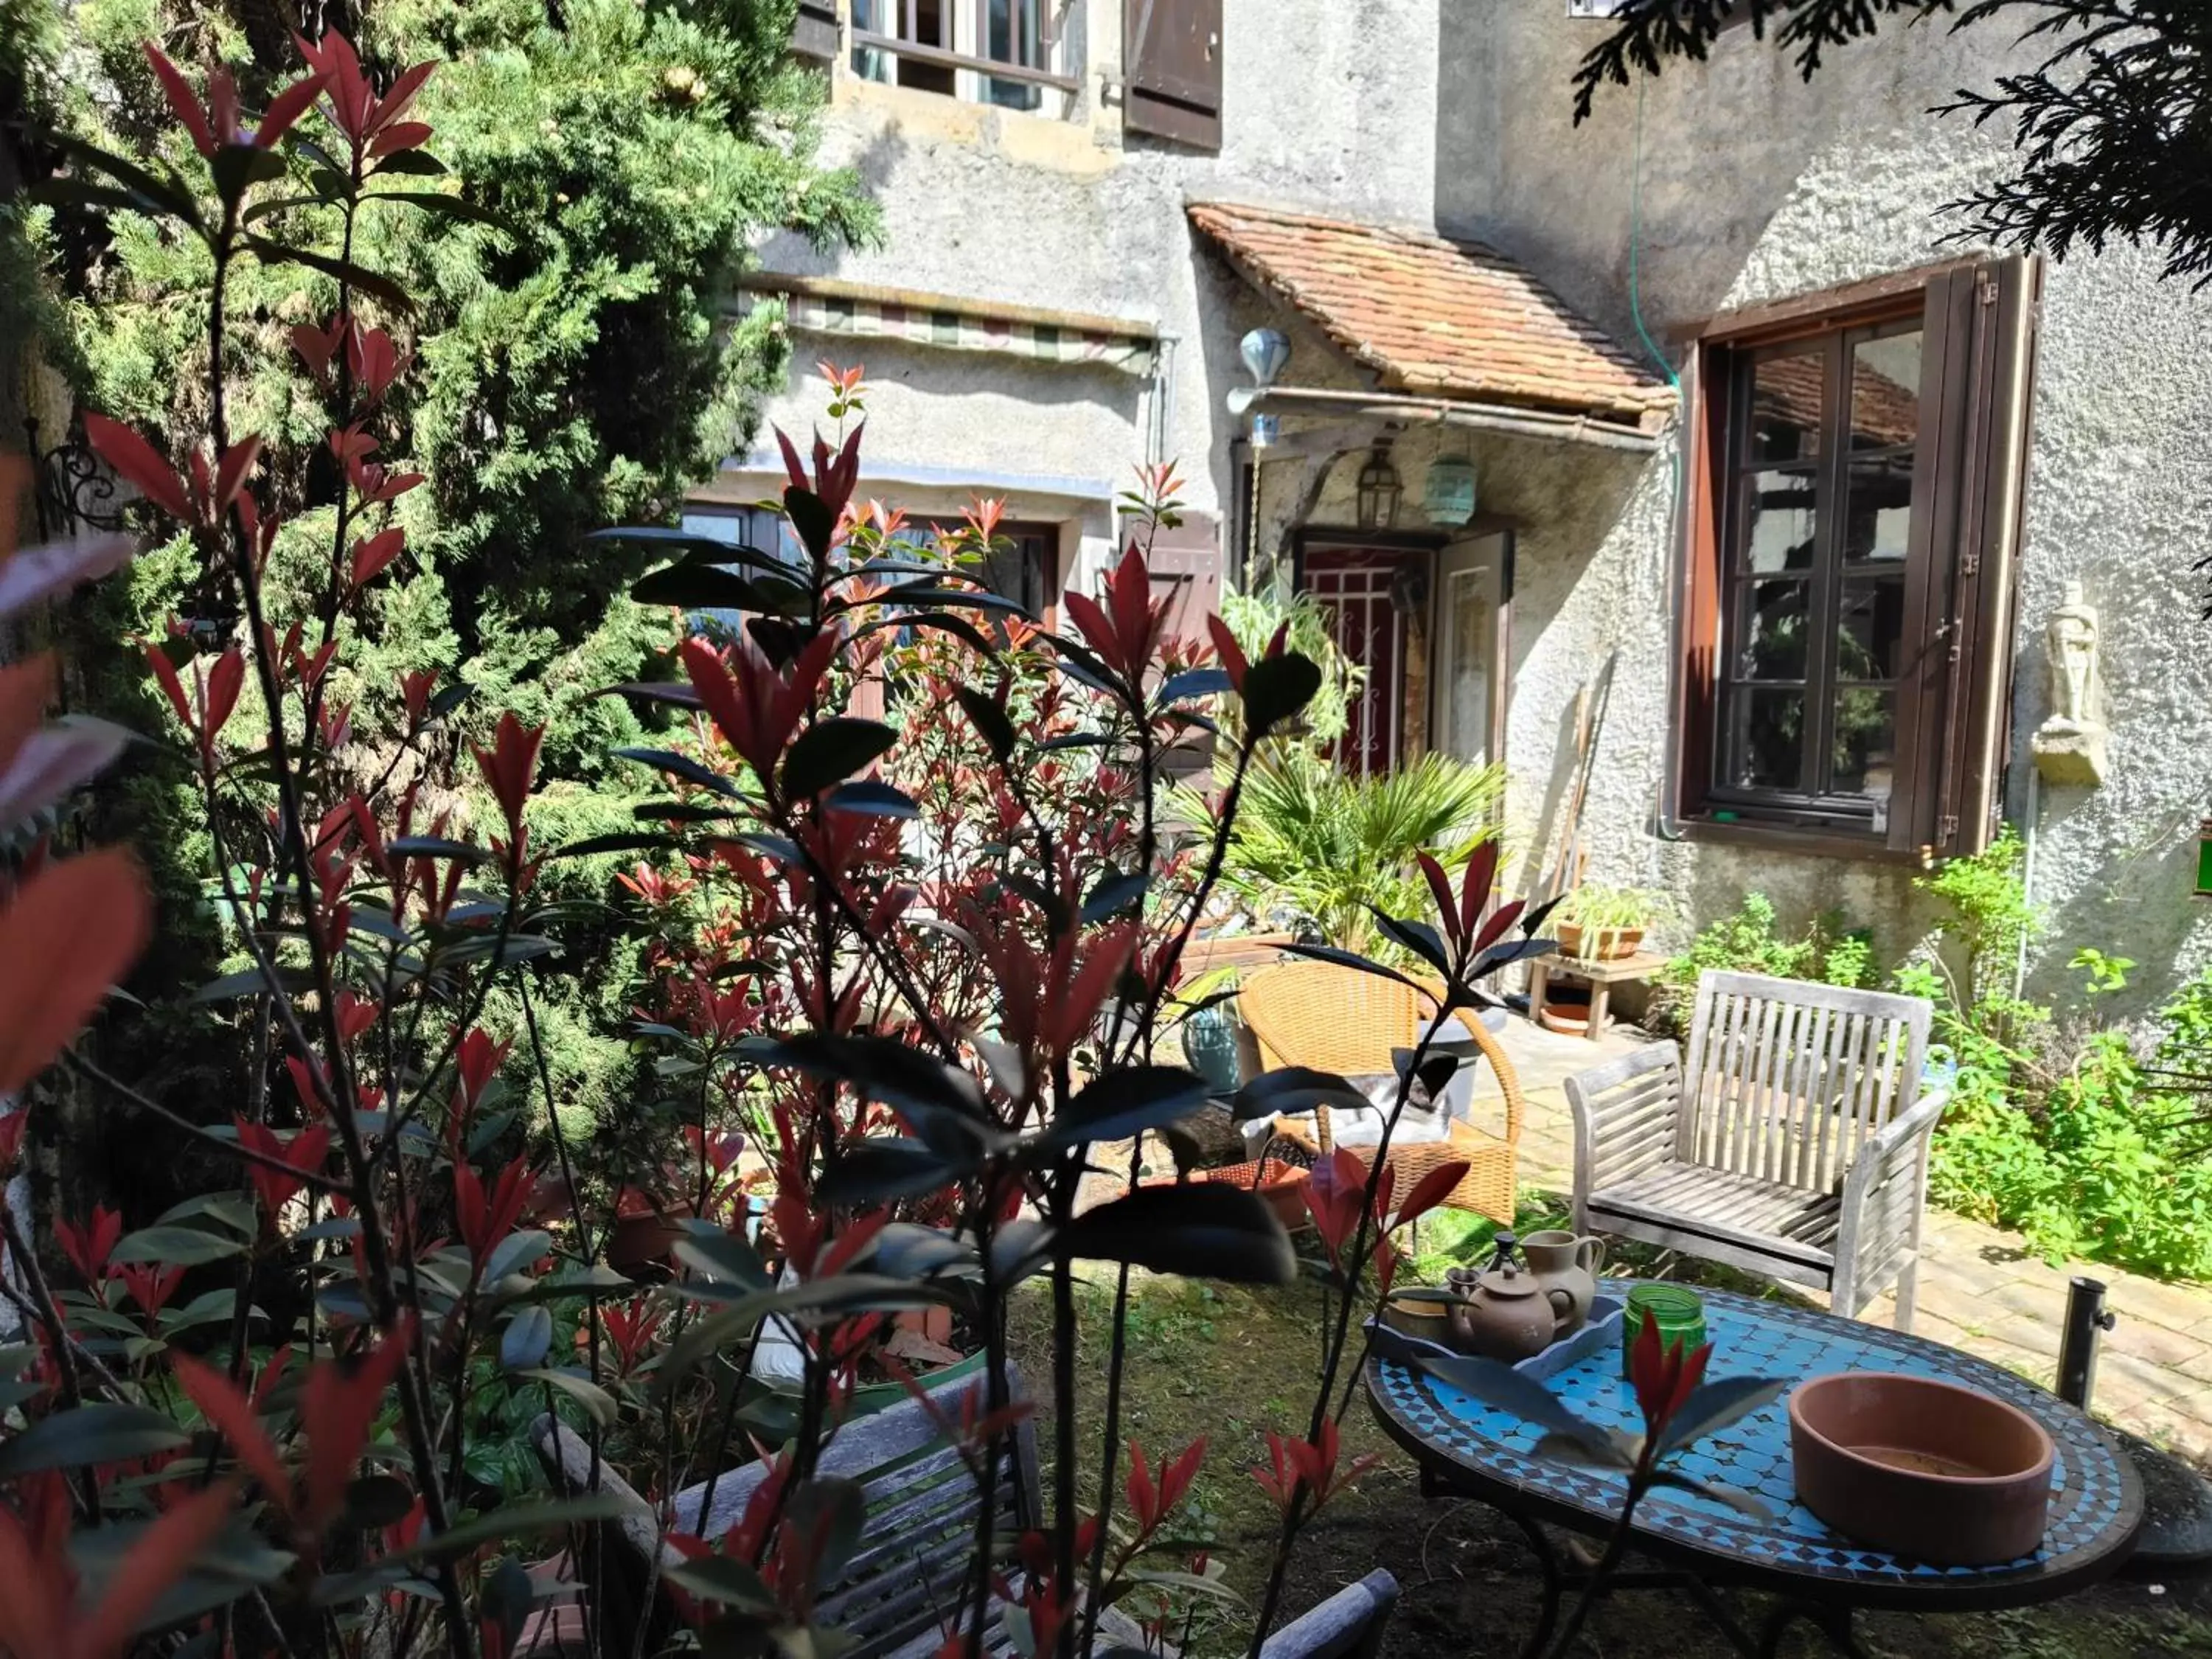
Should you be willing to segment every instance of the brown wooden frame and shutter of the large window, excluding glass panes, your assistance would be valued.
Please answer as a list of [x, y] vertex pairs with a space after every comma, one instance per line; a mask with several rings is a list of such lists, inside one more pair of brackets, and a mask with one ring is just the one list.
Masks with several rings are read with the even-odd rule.
[[[2033, 400], [2042, 268], [2033, 259], [1969, 259], [1898, 272], [1827, 294], [1732, 312], [1690, 349], [1686, 513], [1677, 659], [1677, 818], [1694, 838], [1783, 845], [1854, 858], [1940, 858], [1980, 852], [1995, 830], [2006, 754], [2017, 538]], [[1887, 818], [1867, 796], [1823, 794], [1827, 706], [1823, 672], [1840, 584], [1840, 480], [1849, 469], [1851, 345], [1918, 323], [1920, 416], [1902, 564], [1902, 637], [1893, 699], [1896, 748]], [[1734, 661], [1732, 582], [1747, 515], [1750, 374], [1776, 354], [1823, 352], [1816, 553], [1807, 582], [1807, 734], [1796, 790], [1730, 781], [1728, 679]], [[1843, 442], [1838, 442], [1843, 440]], [[1869, 571], [1858, 568], [1865, 577]], [[1816, 646], [1818, 641], [1818, 646]], [[1816, 692], [1823, 695], [1816, 697]]]

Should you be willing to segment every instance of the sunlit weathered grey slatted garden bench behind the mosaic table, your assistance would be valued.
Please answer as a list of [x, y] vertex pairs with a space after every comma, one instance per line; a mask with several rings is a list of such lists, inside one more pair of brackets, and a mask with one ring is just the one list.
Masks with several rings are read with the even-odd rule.
[[1697, 982], [1688, 1057], [1650, 1044], [1566, 1082], [1575, 1230], [1820, 1285], [1913, 1325], [1929, 1137], [1920, 998], [1754, 973]]

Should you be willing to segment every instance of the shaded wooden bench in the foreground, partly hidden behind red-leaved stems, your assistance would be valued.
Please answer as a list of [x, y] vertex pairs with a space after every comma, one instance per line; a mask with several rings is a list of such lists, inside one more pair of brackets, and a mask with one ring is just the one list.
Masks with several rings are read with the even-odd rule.
[[[1018, 1398], [1020, 1378], [1009, 1383], [1009, 1398]], [[978, 1385], [980, 1378], [969, 1374], [940, 1383], [933, 1396], [958, 1418], [960, 1394]], [[591, 1447], [582, 1436], [542, 1416], [531, 1429], [531, 1440], [555, 1491], [564, 1495], [593, 1491]], [[998, 1480], [1000, 1540], [1040, 1526], [1044, 1513], [1035, 1431], [1024, 1422], [1011, 1440], [1013, 1455]], [[664, 1528], [653, 1506], [602, 1462], [597, 1491], [624, 1498], [630, 1511], [604, 1535], [628, 1557], [633, 1571], [619, 1577], [628, 1579], [630, 1593], [635, 1595], [635, 1586], [648, 1577], [646, 1568], [655, 1557], [664, 1568], [684, 1559], [668, 1546], [664, 1531], [719, 1540], [743, 1515], [765, 1473], [765, 1464], [752, 1462], [721, 1475], [706, 1515], [699, 1513], [708, 1495], [706, 1482], [686, 1486], [670, 1504], [672, 1513]], [[856, 1480], [867, 1495], [860, 1544], [845, 1575], [825, 1588], [816, 1604], [821, 1624], [847, 1637], [847, 1646], [838, 1650], [843, 1659], [929, 1659], [942, 1646], [942, 1626], [956, 1615], [969, 1588], [975, 1511], [982, 1504], [982, 1493], [958, 1449], [942, 1440], [920, 1400], [900, 1400], [845, 1422], [823, 1447], [818, 1473]], [[1020, 1579], [1020, 1573], [1013, 1577]], [[619, 1597], [622, 1586], [615, 1593]], [[1389, 1573], [1369, 1573], [1276, 1630], [1261, 1648], [1261, 1659], [1374, 1659], [1396, 1597], [1398, 1582]], [[659, 1610], [659, 1619], [666, 1619], [666, 1608]], [[995, 1657], [1013, 1652], [995, 1599], [987, 1641]], [[1144, 1646], [1144, 1632], [1128, 1615], [1117, 1608], [1099, 1615], [1099, 1652]]]

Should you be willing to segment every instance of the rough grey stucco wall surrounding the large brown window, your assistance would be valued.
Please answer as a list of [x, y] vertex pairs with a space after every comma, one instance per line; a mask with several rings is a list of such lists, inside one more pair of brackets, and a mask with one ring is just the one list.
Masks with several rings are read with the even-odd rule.
[[[1812, 86], [1772, 46], [1730, 38], [1644, 95], [1610, 91], [1573, 128], [1566, 77], [1595, 27], [1509, 9], [1440, 35], [1438, 217], [1517, 252], [1626, 341], [1630, 246], [1641, 325], [1679, 361], [1674, 330], [1714, 310], [1816, 292], [1964, 252], [1947, 201], [2004, 166], [2000, 135], [1927, 115], [2004, 64], [2002, 35], [1893, 31], [1836, 58]], [[1641, 197], [1635, 155], [1641, 144]], [[1639, 234], [1630, 237], [1637, 223]], [[2081, 945], [2132, 956], [2137, 1011], [2212, 958], [2212, 914], [2188, 898], [2197, 821], [2212, 805], [2212, 626], [2199, 622], [2212, 551], [2212, 303], [2157, 281], [2139, 250], [2077, 254], [2048, 272], [2026, 498], [2008, 812], [2031, 830], [2033, 898], [2051, 931], [2028, 987], [2062, 993]], [[1509, 759], [1520, 812], [1557, 790], [1575, 688], [1621, 648], [1586, 812], [1590, 874], [1659, 880], [1697, 918], [1767, 891], [1785, 920], [1843, 909], [1885, 951], [1922, 931], [1911, 872], [1668, 841], [1657, 823], [1668, 752], [1666, 617], [1674, 462], [1641, 469], [1624, 507], [1590, 489], [1588, 458], [1513, 449], [1484, 498], [1526, 498], [1515, 597]], [[1630, 462], [1632, 465], [1632, 462]], [[1546, 522], [1548, 520], [1548, 522]], [[1546, 531], [1542, 538], [1537, 531]], [[2048, 710], [2042, 628], [2079, 580], [2101, 613], [2112, 772], [2101, 790], [2042, 790], [2028, 732]], [[1542, 816], [1542, 810], [1535, 810]]]

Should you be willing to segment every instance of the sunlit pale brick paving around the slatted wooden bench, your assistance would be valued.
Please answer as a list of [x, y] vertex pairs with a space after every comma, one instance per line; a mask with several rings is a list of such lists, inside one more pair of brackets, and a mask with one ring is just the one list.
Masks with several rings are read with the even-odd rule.
[[[1522, 1186], [1568, 1192], [1575, 1133], [1562, 1082], [1641, 1037], [1608, 1033], [1604, 1044], [1590, 1044], [1513, 1020], [1504, 1042], [1528, 1095]], [[2066, 1281], [2077, 1272], [2104, 1281], [2106, 1305], [2117, 1314], [2097, 1358], [2097, 1416], [2212, 1464], [2212, 1285], [2163, 1285], [2093, 1263], [2051, 1267], [2020, 1234], [1936, 1210], [1927, 1221], [1913, 1332], [2051, 1387]], [[1820, 1292], [1805, 1294], [1820, 1301]], [[1867, 1316], [1887, 1323], [1889, 1298]]]

